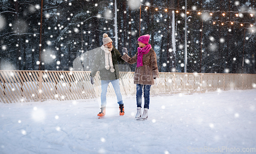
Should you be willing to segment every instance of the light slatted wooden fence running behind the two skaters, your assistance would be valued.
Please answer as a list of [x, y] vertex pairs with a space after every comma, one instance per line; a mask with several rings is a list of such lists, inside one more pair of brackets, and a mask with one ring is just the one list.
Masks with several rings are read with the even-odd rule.
[[[90, 82], [89, 71], [0, 71], [0, 102], [77, 100], [99, 98], [99, 73]], [[159, 84], [151, 87], [151, 95], [205, 93], [218, 90], [255, 88], [256, 74], [159, 73]], [[134, 72], [120, 72], [123, 96], [136, 95]], [[108, 97], [115, 97], [109, 84]]]

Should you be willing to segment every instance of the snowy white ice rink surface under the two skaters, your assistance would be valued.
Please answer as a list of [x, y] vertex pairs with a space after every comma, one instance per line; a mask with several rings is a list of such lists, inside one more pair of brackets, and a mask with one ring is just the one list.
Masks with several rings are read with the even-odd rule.
[[144, 121], [123, 99], [1, 103], [0, 153], [255, 153], [256, 90], [151, 96]]

